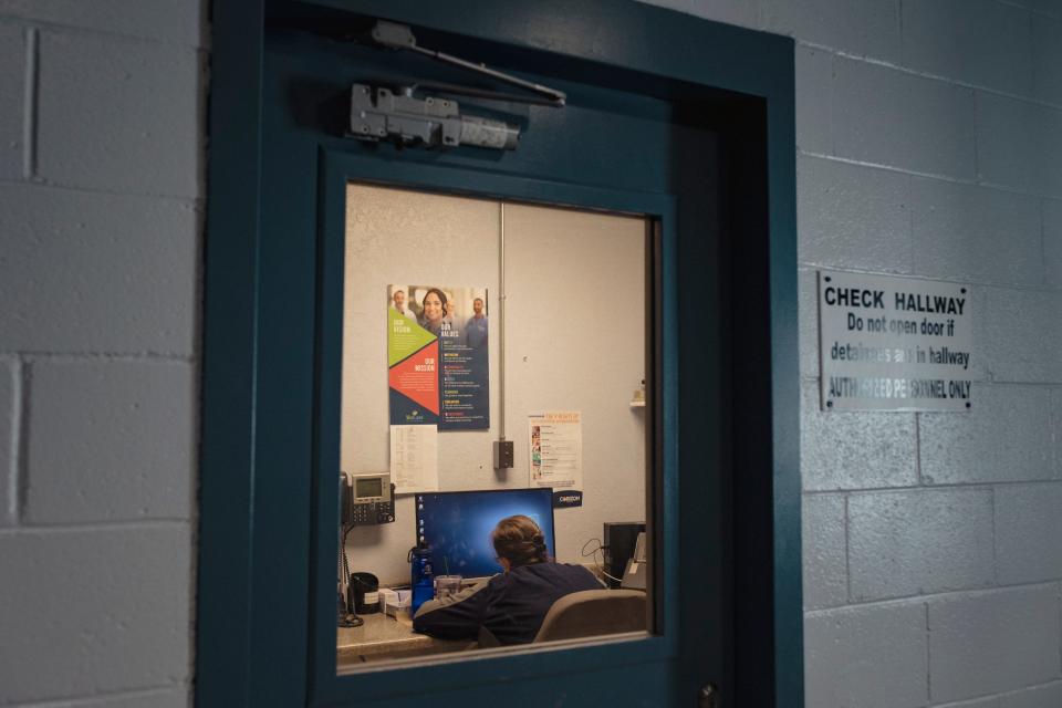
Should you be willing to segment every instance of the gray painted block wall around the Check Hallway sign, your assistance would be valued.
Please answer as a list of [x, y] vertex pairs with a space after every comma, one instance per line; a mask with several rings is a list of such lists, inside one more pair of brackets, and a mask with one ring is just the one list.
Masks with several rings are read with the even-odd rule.
[[[1062, 3], [664, 4], [796, 40], [808, 706], [1062, 706]], [[820, 268], [971, 283], [975, 409], [821, 413]]]

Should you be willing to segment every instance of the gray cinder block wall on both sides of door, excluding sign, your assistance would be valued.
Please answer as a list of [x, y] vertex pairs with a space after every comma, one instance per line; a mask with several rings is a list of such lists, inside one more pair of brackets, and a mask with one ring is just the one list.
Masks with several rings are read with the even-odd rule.
[[[0, 0], [0, 705], [189, 700], [200, 4]], [[668, 4], [798, 40], [809, 707], [1062, 706], [1062, 7]], [[972, 283], [975, 412], [819, 413], [818, 268]]]

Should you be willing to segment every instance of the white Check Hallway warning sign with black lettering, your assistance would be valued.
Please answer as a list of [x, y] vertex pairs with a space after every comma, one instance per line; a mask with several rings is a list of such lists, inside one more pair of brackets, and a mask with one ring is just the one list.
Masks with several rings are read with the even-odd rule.
[[970, 289], [819, 271], [823, 410], [968, 410]]

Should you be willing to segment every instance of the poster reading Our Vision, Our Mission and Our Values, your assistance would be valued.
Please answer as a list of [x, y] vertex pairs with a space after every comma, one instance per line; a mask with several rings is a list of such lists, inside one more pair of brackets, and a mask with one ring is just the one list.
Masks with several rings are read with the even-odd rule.
[[487, 289], [387, 287], [391, 425], [490, 427]]

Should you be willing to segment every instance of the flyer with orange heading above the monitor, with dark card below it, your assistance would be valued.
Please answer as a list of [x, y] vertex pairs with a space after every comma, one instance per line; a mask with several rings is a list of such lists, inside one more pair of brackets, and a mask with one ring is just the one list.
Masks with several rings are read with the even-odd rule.
[[583, 426], [577, 410], [528, 417], [531, 487], [551, 487], [553, 507], [583, 506]]

